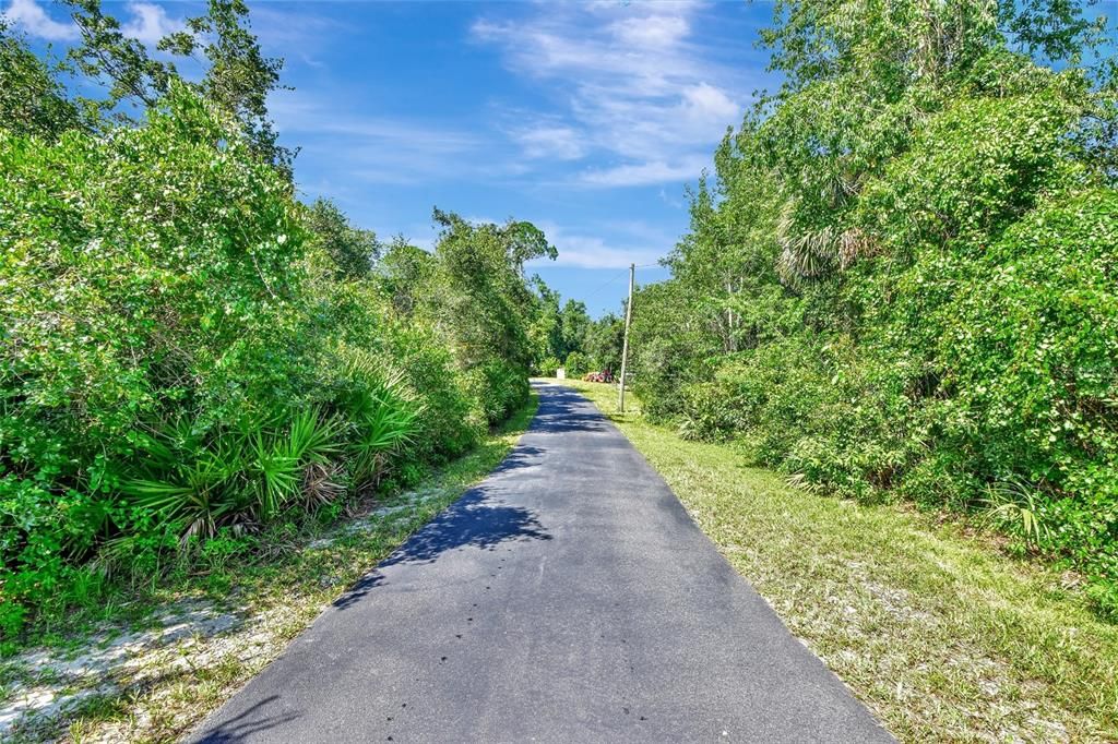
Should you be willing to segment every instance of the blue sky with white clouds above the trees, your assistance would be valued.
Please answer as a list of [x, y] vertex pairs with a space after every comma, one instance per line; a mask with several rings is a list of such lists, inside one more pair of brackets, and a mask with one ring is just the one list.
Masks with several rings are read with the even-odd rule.
[[[74, 38], [49, 0], [0, 0], [35, 41]], [[684, 188], [709, 168], [754, 92], [771, 13], [746, 2], [250, 2], [286, 59], [272, 113], [301, 147], [301, 198], [335, 200], [383, 238], [429, 247], [432, 207], [531, 220], [559, 248], [533, 266], [565, 297], [616, 311], [626, 267], [686, 229]], [[105, 2], [153, 41], [192, 2]], [[650, 266], [652, 265], [652, 266]]]

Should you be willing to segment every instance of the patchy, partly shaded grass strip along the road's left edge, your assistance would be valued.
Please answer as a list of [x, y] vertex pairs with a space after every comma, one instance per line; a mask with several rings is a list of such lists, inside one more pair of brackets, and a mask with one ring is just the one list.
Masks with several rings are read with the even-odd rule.
[[[471, 452], [329, 535], [294, 535], [264, 556], [234, 556], [209, 575], [155, 588], [117, 608], [108, 618], [111, 628], [85, 620], [40, 635], [42, 646], [25, 650], [65, 659], [111, 645], [114, 632], [158, 626], [160, 610], [183, 603], [236, 617], [231, 630], [130, 652], [125, 662], [91, 680], [59, 681], [56, 667], [21, 662], [19, 655], [0, 664], [0, 704], [16, 683], [25, 690], [87, 693], [58, 715], [17, 725], [3, 734], [4, 741], [176, 741], [278, 656], [345, 588], [496, 467], [528, 428], [537, 404], [533, 393]], [[102, 691], [108, 680], [113, 688]]]

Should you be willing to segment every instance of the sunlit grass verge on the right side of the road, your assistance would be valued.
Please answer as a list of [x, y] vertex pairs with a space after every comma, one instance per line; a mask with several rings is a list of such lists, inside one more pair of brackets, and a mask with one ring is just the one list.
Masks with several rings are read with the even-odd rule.
[[[958, 517], [863, 506], [685, 441], [615, 385], [609, 416], [785, 624], [906, 742], [1118, 741], [1118, 627], [1072, 576]], [[636, 411], [633, 409], [637, 408]]]

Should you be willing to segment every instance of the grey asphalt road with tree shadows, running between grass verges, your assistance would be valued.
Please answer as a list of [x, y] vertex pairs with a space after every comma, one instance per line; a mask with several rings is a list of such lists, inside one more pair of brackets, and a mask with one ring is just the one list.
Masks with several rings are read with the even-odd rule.
[[505, 461], [191, 741], [892, 741], [594, 406], [538, 390]]

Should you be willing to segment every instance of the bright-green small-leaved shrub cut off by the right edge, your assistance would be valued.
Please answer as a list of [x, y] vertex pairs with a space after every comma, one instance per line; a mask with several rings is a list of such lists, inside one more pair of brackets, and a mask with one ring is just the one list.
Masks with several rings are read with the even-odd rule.
[[1116, 245], [1118, 192], [1054, 201], [968, 267], [945, 308], [950, 404], [972, 421], [956, 436], [992, 474], [1118, 503]]

